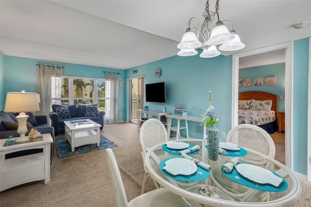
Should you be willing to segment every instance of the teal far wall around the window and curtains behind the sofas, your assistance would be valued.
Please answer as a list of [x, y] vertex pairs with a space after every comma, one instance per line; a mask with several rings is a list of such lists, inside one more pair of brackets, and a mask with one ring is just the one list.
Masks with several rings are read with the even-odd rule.
[[[104, 72], [119, 72], [120, 81], [124, 81], [125, 71], [121, 69], [109, 69], [103, 67], [94, 67], [70, 63], [59, 63], [53, 61], [44, 61], [31, 58], [22, 58], [14, 56], [5, 56], [4, 68], [3, 71], [3, 91], [1, 95], [6, 94], [7, 92], [17, 92], [25, 90], [26, 92], [36, 92], [36, 77], [37, 77], [37, 67], [36, 64], [48, 64], [52, 66], [63, 66], [62, 71], [63, 75], [68, 76], [80, 76], [80, 77], [95, 77], [95, 78], [105, 78]], [[2, 77], [2, 76], [1, 76]], [[2, 81], [1, 81], [2, 83]], [[118, 120], [126, 120], [126, 101], [125, 93], [126, 86], [121, 90], [119, 88], [119, 104], [118, 112], [121, 112], [121, 115], [118, 113]], [[4, 109], [5, 99], [1, 99], [0, 110]]]

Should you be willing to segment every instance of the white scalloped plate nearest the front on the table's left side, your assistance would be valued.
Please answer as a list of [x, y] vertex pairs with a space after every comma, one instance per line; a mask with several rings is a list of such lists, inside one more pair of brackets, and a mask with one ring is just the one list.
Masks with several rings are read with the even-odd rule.
[[197, 166], [190, 159], [177, 157], [167, 160], [163, 169], [173, 175], [190, 175], [196, 172]]

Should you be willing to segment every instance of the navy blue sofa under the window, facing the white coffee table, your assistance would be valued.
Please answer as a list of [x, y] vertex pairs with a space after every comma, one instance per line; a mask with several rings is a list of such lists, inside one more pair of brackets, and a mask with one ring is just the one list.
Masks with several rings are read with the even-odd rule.
[[[105, 112], [97, 109], [96, 116], [85, 116], [86, 115], [86, 105], [97, 106], [98, 104], [69, 104], [69, 105], [62, 105], [62, 104], [52, 104], [52, 111], [49, 113], [49, 117], [52, 120], [52, 126], [55, 130], [55, 135], [59, 133], [65, 132], [65, 124], [64, 121], [72, 121], [72, 120], [84, 120], [90, 119], [95, 121], [96, 123], [101, 124], [101, 129], [104, 127], [104, 115]], [[60, 114], [56, 113], [56, 108], [60, 107], [68, 107], [70, 117], [67, 119], [60, 119]]]

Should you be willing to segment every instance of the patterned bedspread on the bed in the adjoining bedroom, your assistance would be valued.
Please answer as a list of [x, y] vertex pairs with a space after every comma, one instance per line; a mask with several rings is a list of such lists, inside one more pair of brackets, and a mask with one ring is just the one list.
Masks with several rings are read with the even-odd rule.
[[270, 123], [276, 120], [275, 111], [263, 111], [263, 110], [249, 110], [239, 109], [238, 110], [239, 124], [249, 123], [256, 126]]

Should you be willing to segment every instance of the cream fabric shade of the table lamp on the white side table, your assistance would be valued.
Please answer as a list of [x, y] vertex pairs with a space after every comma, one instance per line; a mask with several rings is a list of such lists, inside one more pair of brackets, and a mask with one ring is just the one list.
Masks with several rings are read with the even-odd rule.
[[8, 92], [6, 95], [4, 111], [6, 112], [33, 112], [39, 111], [37, 93]]

